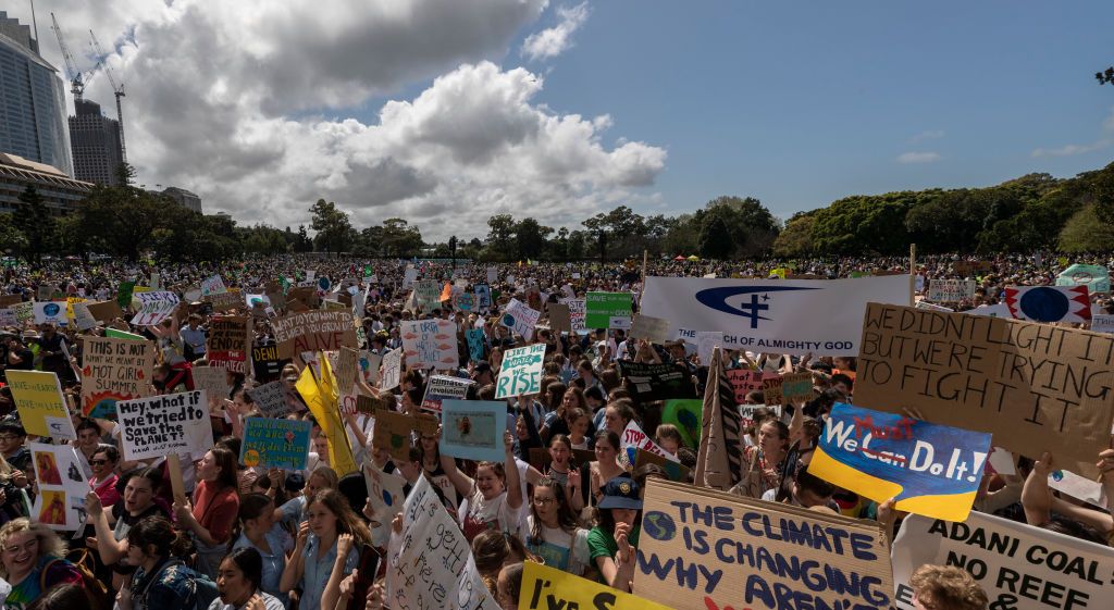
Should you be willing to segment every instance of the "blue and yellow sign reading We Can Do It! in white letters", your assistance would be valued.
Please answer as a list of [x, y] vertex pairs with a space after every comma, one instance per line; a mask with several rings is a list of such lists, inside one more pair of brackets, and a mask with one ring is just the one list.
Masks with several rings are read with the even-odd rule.
[[836, 403], [809, 472], [897, 510], [962, 521], [983, 480], [990, 435]]

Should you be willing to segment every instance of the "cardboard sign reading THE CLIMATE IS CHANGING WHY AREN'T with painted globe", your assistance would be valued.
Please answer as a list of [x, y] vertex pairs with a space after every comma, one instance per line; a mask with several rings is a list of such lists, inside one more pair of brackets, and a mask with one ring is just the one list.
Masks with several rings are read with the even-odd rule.
[[676, 610], [889, 610], [888, 555], [874, 521], [649, 479], [634, 591]]

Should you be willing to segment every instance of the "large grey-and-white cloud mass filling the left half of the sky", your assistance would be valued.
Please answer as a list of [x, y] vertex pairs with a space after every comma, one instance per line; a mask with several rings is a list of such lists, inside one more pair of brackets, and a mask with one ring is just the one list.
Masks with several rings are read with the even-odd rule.
[[[296, 226], [324, 197], [358, 227], [399, 216], [441, 239], [482, 236], [492, 214], [560, 226], [656, 200], [641, 187], [664, 168], [663, 148], [637, 137], [606, 147], [615, 118], [555, 114], [535, 101], [540, 76], [488, 60], [547, 0], [379, 0], [346, 11], [311, 0], [114, 0], [99, 12], [66, 1], [55, 9], [68, 30], [88, 23], [106, 50], [119, 47], [108, 61], [127, 87], [140, 181], [193, 190], [207, 213]], [[60, 65], [57, 45], [43, 48]], [[378, 121], [352, 118], [432, 77], [413, 99], [381, 104]], [[114, 114], [104, 78], [86, 97]]]

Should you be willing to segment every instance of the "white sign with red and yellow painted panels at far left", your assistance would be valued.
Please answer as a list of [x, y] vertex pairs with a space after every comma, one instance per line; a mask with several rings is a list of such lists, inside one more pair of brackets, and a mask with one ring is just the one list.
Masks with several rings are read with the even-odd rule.
[[28, 443], [38, 495], [31, 508], [31, 519], [51, 530], [74, 531], [85, 521], [85, 495], [89, 481], [85, 476], [74, 445]]

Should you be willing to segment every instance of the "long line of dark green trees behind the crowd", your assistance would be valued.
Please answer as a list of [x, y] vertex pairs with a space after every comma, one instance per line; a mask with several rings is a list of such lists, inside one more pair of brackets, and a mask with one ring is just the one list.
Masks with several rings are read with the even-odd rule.
[[[620, 205], [579, 227], [547, 227], [532, 217], [499, 214], [485, 236], [428, 243], [404, 218], [356, 228], [346, 211], [319, 199], [309, 228], [238, 226], [227, 215], [201, 214], [133, 185], [97, 186], [67, 216], [52, 216], [33, 186], [14, 214], [0, 215], [0, 248], [38, 260], [46, 254], [91, 253], [138, 259], [155, 252], [178, 260], [326, 252], [391, 258], [428, 256], [475, 260], [617, 260], [690, 256], [901, 255], [919, 252], [995, 254], [1036, 249], [1114, 248], [1114, 164], [1072, 178], [1029, 174], [984, 188], [854, 195], [782, 222], [756, 198], [723, 196], [692, 213], [643, 216]], [[310, 232], [313, 235], [310, 235]]]

